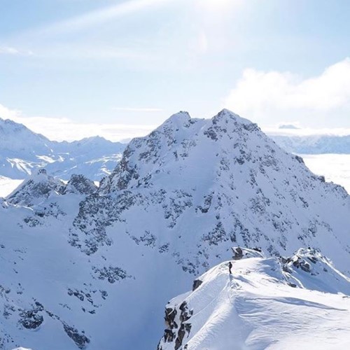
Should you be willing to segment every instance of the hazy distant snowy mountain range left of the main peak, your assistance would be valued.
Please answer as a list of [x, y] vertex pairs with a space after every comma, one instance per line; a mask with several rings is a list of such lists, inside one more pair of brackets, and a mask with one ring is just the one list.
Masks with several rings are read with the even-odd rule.
[[0, 118], [0, 176], [25, 179], [45, 167], [50, 174], [66, 181], [72, 174], [84, 174], [99, 181], [116, 167], [125, 146], [102, 137], [50, 141], [25, 125]]

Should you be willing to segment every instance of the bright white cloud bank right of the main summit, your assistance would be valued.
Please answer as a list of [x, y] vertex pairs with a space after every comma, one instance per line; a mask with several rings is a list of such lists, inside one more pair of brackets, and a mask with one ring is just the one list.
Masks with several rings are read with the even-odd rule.
[[315, 126], [349, 126], [350, 59], [313, 78], [246, 69], [225, 106], [260, 124], [297, 118]]

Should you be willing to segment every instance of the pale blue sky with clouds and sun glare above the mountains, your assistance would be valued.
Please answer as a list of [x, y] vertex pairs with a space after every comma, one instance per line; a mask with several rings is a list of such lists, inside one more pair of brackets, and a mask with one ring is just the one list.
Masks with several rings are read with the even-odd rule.
[[350, 128], [350, 1], [1, 0], [0, 13], [0, 114], [50, 137], [109, 137], [97, 124], [131, 137], [223, 107]]

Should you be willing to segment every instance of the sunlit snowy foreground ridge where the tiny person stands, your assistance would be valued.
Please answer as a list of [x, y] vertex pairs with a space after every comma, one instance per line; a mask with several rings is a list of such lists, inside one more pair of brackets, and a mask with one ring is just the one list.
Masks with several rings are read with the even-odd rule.
[[[293, 266], [286, 272], [283, 261], [295, 257], [328, 269], [314, 274]], [[232, 274], [223, 262], [200, 276], [192, 291], [167, 304], [158, 350], [348, 348], [350, 279], [313, 250], [283, 261], [232, 260]], [[289, 274], [299, 288], [288, 281]]]

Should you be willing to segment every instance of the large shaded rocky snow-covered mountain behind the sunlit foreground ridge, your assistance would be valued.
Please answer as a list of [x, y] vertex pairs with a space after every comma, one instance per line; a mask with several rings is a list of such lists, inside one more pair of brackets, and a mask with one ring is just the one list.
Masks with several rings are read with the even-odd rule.
[[[254, 259], [259, 249], [282, 256], [312, 246], [349, 269], [349, 212], [343, 188], [311, 174], [257, 125], [227, 110], [211, 120], [178, 113], [131, 141], [99, 188], [40, 172], [0, 202], [3, 342], [155, 349], [162, 325], [149, 315], [231, 258], [232, 245]], [[318, 272], [309, 259], [293, 262], [284, 262], [288, 290], [299, 273]], [[193, 289], [205, 289], [202, 277]], [[33, 311], [36, 302], [42, 309]], [[167, 316], [179, 349], [194, 330], [186, 303]]]

